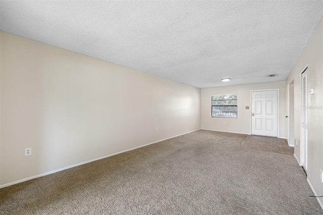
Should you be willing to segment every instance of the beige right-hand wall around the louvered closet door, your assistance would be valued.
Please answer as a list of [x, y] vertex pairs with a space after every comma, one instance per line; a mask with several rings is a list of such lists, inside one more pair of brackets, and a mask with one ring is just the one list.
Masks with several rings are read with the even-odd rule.
[[[323, 20], [321, 20], [308, 40], [301, 56], [295, 63], [286, 84], [294, 83], [294, 136], [295, 156], [301, 162], [301, 75], [308, 66], [308, 89], [315, 89], [309, 94], [308, 103], [308, 168], [307, 178], [317, 195], [323, 193], [320, 170], [323, 171]], [[323, 208], [323, 199], [317, 198]]]

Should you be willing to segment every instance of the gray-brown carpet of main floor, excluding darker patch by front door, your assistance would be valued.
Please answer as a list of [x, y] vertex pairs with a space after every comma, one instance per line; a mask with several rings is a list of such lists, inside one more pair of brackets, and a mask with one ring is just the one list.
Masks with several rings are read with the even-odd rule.
[[323, 214], [292, 155], [199, 130], [0, 190], [1, 214]]

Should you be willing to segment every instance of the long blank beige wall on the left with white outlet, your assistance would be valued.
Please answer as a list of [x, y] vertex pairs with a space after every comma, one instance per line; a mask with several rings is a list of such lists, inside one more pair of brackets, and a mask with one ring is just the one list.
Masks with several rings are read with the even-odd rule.
[[199, 88], [6, 32], [1, 57], [1, 185], [200, 129]]

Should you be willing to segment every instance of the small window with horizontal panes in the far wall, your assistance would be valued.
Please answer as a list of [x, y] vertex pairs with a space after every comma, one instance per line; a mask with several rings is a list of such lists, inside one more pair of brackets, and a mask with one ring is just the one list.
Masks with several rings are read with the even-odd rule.
[[238, 94], [212, 95], [211, 105], [211, 117], [238, 117]]

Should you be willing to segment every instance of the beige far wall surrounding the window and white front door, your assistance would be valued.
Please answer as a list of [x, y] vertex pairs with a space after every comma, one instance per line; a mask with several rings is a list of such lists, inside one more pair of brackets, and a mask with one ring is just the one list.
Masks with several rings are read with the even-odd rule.
[[[201, 89], [201, 128], [250, 134], [250, 90], [265, 89], [279, 89], [279, 136], [285, 137], [285, 81]], [[211, 95], [217, 94], [238, 94], [237, 119], [211, 117]], [[249, 110], [245, 109], [246, 106]]]

